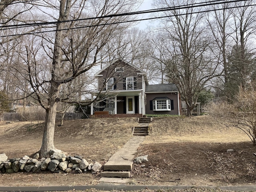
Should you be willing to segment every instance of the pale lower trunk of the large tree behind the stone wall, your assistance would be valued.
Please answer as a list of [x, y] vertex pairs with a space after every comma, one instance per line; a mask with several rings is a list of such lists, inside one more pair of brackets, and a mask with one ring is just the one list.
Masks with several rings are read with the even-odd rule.
[[56, 121], [57, 102], [50, 99], [49, 108], [46, 109], [46, 119], [44, 125], [44, 136], [40, 149], [40, 157], [50, 157], [50, 150], [54, 147], [54, 128]]

